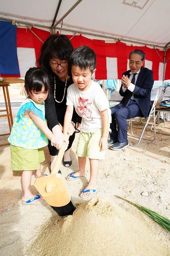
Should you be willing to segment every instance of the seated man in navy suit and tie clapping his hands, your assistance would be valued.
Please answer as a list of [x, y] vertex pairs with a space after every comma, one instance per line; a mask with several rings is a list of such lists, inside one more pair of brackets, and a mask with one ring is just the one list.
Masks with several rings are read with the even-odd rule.
[[112, 150], [121, 150], [129, 146], [127, 140], [127, 119], [135, 116], [148, 116], [150, 110], [150, 92], [154, 84], [153, 71], [142, 67], [145, 53], [133, 50], [129, 55], [129, 68], [123, 73], [119, 90], [123, 99], [111, 108], [112, 123], [108, 146]]

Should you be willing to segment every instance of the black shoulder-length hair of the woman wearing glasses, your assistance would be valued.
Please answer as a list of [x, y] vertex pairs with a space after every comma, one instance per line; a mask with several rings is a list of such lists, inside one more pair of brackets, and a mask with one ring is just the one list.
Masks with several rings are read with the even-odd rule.
[[38, 63], [51, 76], [53, 72], [49, 66], [49, 61], [59, 59], [69, 62], [71, 52], [73, 52], [73, 46], [67, 36], [61, 34], [51, 35], [42, 45]]

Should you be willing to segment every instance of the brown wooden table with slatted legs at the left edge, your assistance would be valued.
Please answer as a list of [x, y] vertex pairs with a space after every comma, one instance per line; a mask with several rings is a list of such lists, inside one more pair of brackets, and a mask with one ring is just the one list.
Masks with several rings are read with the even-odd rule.
[[[2, 82], [0, 82], [0, 87], [2, 87], [2, 90], [3, 90], [5, 106], [6, 106], [5, 109], [0, 110], [0, 112], [6, 112], [6, 114], [0, 114], [0, 117], [6, 116], [8, 118], [8, 126], [9, 126], [10, 132], [11, 132], [12, 125], [13, 125], [13, 118], [12, 118], [12, 110], [11, 110], [8, 86], [10, 86], [10, 84], [14, 84], [14, 83], [24, 83], [24, 80], [20, 79], [20, 78], [16, 78], [16, 77], [9, 77], [9, 78], [6, 77], [6, 78], [3, 78]], [[0, 136], [9, 135], [10, 132], [0, 134]], [[9, 142], [1, 143], [0, 146], [5, 146], [8, 144], [9, 144]]]

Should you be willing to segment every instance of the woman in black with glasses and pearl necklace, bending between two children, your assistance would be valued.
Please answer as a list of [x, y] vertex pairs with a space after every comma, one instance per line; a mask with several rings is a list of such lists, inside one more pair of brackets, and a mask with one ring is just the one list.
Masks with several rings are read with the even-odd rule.
[[[73, 84], [71, 71], [69, 70], [69, 60], [73, 46], [67, 36], [52, 35], [44, 42], [40, 58], [38, 60], [40, 66], [45, 68], [49, 74], [51, 90], [45, 100], [45, 117], [48, 122], [48, 127], [57, 137], [58, 148], [63, 140], [67, 140], [61, 132], [64, 124], [64, 115], [66, 111], [67, 88]], [[72, 121], [76, 123], [77, 113], [74, 110]], [[60, 126], [60, 128], [59, 128]], [[63, 157], [64, 166], [71, 166], [70, 150], [75, 138], [75, 132], [69, 137], [69, 146]], [[48, 144], [49, 153], [51, 156], [51, 169], [53, 168], [58, 150], [51, 144]]]

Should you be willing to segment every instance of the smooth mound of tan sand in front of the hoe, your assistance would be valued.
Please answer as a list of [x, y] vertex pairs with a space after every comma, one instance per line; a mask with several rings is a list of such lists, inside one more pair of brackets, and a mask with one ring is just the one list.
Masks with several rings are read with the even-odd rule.
[[93, 198], [73, 216], [53, 216], [30, 247], [29, 256], [168, 256], [141, 219], [109, 201]]

